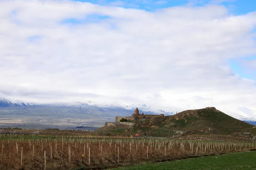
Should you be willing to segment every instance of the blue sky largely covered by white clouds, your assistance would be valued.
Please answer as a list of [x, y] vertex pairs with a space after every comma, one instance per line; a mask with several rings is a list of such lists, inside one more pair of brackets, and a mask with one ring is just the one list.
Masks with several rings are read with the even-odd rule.
[[256, 111], [255, 6], [0, 0], [0, 96]]

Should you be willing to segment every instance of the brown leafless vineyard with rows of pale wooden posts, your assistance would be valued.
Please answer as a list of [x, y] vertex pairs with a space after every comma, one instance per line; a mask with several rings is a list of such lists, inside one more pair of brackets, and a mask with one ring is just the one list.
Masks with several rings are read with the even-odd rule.
[[111, 137], [4, 135], [1, 170], [55, 170], [117, 165], [131, 161], [174, 159], [256, 148], [255, 143]]

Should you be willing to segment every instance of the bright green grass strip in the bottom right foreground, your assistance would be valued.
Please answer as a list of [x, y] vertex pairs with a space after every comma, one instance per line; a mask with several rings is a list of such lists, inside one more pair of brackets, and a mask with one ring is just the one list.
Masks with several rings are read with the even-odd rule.
[[142, 164], [116, 170], [256, 170], [256, 151]]

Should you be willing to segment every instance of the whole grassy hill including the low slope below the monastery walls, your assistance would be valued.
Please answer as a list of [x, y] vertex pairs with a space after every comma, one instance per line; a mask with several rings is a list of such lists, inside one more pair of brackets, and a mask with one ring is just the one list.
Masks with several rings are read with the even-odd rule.
[[[187, 110], [172, 116], [159, 116], [151, 119], [140, 119], [136, 127], [116, 126], [99, 129], [98, 132], [139, 133], [147, 132], [150, 136], [161, 136], [161, 131], [172, 135], [175, 130], [204, 134], [230, 134], [233, 132], [256, 132], [255, 126], [235, 119], [216, 108]], [[143, 129], [144, 128], [144, 129]], [[155, 131], [160, 130], [159, 133]], [[198, 130], [201, 130], [200, 132]], [[163, 133], [162, 132], [162, 133]]]

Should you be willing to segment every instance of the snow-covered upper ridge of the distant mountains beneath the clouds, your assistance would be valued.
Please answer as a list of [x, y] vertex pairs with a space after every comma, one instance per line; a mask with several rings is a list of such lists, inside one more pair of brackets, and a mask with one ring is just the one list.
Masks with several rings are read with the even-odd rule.
[[[116, 109], [119, 113], [127, 111], [134, 111], [135, 108], [139, 108], [140, 112], [146, 112], [147, 114], [165, 114], [166, 116], [173, 115], [176, 112], [179, 113], [181, 111], [186, 110], [193, 110], [193, 109], [200, 109], [193, 106], [186, 106], [184, 108], [176, 108], [176, 107], [169, 107], [166, 105], [146, 105], [146, 104], [125, 104], [125, 103], [105, 103], [105, 102], [78, 102], [78, 101], [71, 101], [71, 102], [49, 102], [49, 103], [29, 103], [23, 102], [20, 100], [13, 100], [4, 97], [0, 97], [0, 107], [19, 107], [19, 106], [32, 106], [32, 105], [46, 105], [46, 106], [81, 106], [84, 108], [101, 108], [101, 109]], [[251, 110], [249, 108], [244, 107], [221, 107], [215, 106], [218, 110], [232, 116], [236, 119], [242, 121], [256, 121], [256, 111]], [[113, 112], [113, 116], [115, 113]]]

